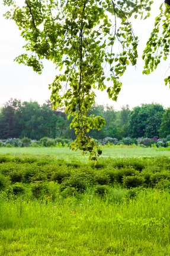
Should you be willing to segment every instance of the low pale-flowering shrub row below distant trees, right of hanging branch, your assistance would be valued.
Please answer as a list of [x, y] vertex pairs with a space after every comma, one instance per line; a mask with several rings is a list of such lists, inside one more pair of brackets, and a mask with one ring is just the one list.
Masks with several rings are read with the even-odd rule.
[[136, 146], [142, 146], [142, 147], [152, 147], [156, 146], [159, 147], [168, 147], [170, 145], [170, 135], [168, 135], [166, 138], [158, 139], [157, 137], [150, 138], [131, 138], [131, 137], [125, 137], [121, 140], [118, 140], [116, 138], [112, 137], [105, 137], [103, 140], [98, 141], [101, 145], [136, 145]]

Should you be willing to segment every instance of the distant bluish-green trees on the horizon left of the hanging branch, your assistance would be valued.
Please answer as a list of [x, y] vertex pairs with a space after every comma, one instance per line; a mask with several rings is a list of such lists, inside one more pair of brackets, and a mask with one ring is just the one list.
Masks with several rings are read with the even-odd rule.
[[54, 111], [49, 103], [39, 105], [36, 101], [9, 100], [0, 110], [0, 138], [68, 137], [75, 139], [69, 129], [71, 120], [62, 111]]

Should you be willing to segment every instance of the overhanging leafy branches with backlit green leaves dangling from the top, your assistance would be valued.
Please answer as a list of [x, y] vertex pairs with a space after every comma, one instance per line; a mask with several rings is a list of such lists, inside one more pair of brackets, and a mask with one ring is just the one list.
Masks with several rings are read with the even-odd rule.
[[[120, 77], [127, 65], [136, 65], [137, 61], [138, 39], [130, 19], [138, 15], [142, 19], [149, 17], [153, 1], [25, 0], [23, 7], [13, 0], [3, 1], [11, 7], [5, 17], [15, 21], [27, 42], [24, 49], [28, 53], [15, 60], [38, 73], [43, 69], [43, 59], [53, 61], [57, 75], [49, 85], [51, 101], [54, 108], [64, 106], [68, 117], [73, 116], [70, 128], [75, 129], [77, 137], [71, 149], [81, 149], [82, 153], [89, 151], [89, 158], [97, 159], [101, 150], [86, 135], [89, 130], [100, 130], [105, 124], [102, 117], [88, 114], [95, 103], [94, 89], [106, 89], [108, 97], [117, 100]], [[161, 21], [164, 41], [158, 37]], [[153, 71], [160, 56], [168, 54], [168, 37], [169, 9], [168, 5], [166, 9], [161, 5], [160, 17], [156, 17], [154, 33], [143, 55], [144, 73]], [[163, 53], [156, 57], [153, 55], [159, 47], [158, 41]], [[117, 42], [121, 45], [119, 52], [114, 50]], [[107, 86], [107, 81], [112, 85]], [[170, 77], [165, 82], [169, 81]]]

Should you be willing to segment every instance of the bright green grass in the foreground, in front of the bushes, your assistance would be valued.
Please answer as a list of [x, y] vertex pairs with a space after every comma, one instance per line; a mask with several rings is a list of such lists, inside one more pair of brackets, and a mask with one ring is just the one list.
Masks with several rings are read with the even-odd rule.
[[47, 204], [0, 201], [1, 256], [168, 256], [169, 240], [166, 191], [123, 203], [90, 194]]

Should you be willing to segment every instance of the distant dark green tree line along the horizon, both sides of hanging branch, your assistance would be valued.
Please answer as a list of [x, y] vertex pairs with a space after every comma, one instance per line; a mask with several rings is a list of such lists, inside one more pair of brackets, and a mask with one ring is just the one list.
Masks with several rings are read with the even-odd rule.
[[[118, 140], [124, 137], [159, 138], [170, 134], [170, 108], [165, 110], [156, 103], [142, 104], [133, 110], [125, 105], [119, 111], [108, 105], [94, 105], [89, 114], [105, 118], [106, 124], [100, 131], [89, 132], [97, 140], [105, 137]], [[49, 100], [40, 105], [37, 101], [22, 103], [10, 99], [0, 110], [0, 139], [61, 137], [73, 140], [75, 133], [69, 127], [71, 121], [63, 109], [53, 110]]]

